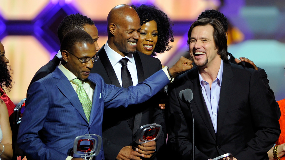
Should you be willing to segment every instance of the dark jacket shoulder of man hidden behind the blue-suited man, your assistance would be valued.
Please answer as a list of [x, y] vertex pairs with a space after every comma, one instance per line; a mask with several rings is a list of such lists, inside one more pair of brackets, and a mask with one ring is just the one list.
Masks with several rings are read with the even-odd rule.
[[[32, 81], [30, 83], [30, 85], [32, 83], [34, 83], [35, 81], [45, 77], [46, 75], [52, 73], [55, 69], [56, 66], [59, 65], [59, 62], [61, 61], [60, 58], [58, 58], [56, 55], [54, 56], [54, 58], [52, 58], [52, 60], [50, 60], [48, 63], [46, 63], [44, 66], [40, 67], [40, 69], [36, 72], [36, 74], [34, 75], [34, 77], [32, 78]], [[28, 87], [28, 90], [30, 88], [30, 85]]]

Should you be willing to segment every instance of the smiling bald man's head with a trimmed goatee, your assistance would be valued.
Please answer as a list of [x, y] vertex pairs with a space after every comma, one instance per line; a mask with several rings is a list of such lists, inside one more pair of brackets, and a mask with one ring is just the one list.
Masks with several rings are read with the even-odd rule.
[[141, 22], [129, 5], [117, 5], [108, 14], [108, 45], [122, 56], [136, 51]]

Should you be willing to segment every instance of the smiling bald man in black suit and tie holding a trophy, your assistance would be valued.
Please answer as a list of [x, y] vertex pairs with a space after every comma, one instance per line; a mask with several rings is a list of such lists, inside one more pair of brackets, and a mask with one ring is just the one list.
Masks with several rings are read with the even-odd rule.
[[[108, 41], [98, 51], [100, 58], [94, 63], [91, 72], [100, 74], [107, 84], [124, 87], [121, 77], [122, 58], [128, 60], [127, 68], [131, 74], [132, 85], [136, 85], [162, 68], [157, 58], [136, 52], [141, 25], [139, 16], [132, 7], [128, 5], [114, 7], [109, 12], [107, 23]], [[164, 111], [158, 106], [161, 98], [159, 95], [156, 96], [158, 97], [152, 97], [151, 100], [131, 108], [104, 109], [105, 159], [141, 159], [139, 153], [144, 154], [144, 158], [156, 158], [156, 155], [159, 155], [163, 150], [161, 146], [164, 145], [166, 132]], [[133, 135], [138, 127], [150, 123], [160, 124], [164, 128], [158, 140], [141, 145], [133, 143]], [[134, 146], [137, 147], [136, 150], [132, 148]]]

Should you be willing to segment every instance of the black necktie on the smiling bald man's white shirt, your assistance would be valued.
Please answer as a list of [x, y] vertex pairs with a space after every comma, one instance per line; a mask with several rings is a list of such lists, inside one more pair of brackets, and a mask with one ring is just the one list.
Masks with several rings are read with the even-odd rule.
[[121, 76], [122, 76], [122, 85], [124, 88], [127, 88], [127, 87], [133, 85], [131, 73], [128, 70], [128, 61], [129, 61], [129, 59], [127, 59], [127, 58], [122, 58], [119, 61], [122, 64]]

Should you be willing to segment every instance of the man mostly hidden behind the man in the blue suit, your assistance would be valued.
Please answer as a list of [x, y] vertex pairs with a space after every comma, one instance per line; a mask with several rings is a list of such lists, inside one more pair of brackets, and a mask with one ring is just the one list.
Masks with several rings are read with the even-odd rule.
[[[94, 40], [94, 44], [96, 46], [96, 50], [98, 51], [100, 48], [98, 46], [97, 40], [99, 38], [98, 36], [98, 30], [90, 18], [87, 16], [83, 16], [79, 13], [77, 14], [71, 14], [66, 16], [59, 24], [57, 35], [60, 40], [60, 43], [63, 39], [63, 36], [69, 32], [70, 30], [74, 29], [82, 29], [86, 31]], [[30, 82], [30, 85], [34, 83], [35, 81], [45, 77], [49, 73], [52, 73], [56, 66], [59, 65], [59, 62], [61, 61], [61, 52], [58, 51], [58, 53], [50, 60], [48, 63], [46, 63], [44, 66], [40, 67], [40, 69], [36, 72], [34, 77], [32, 78], [32, 81]], [[28, 90], [30, 88], [30, 85], [28, 86]]]

